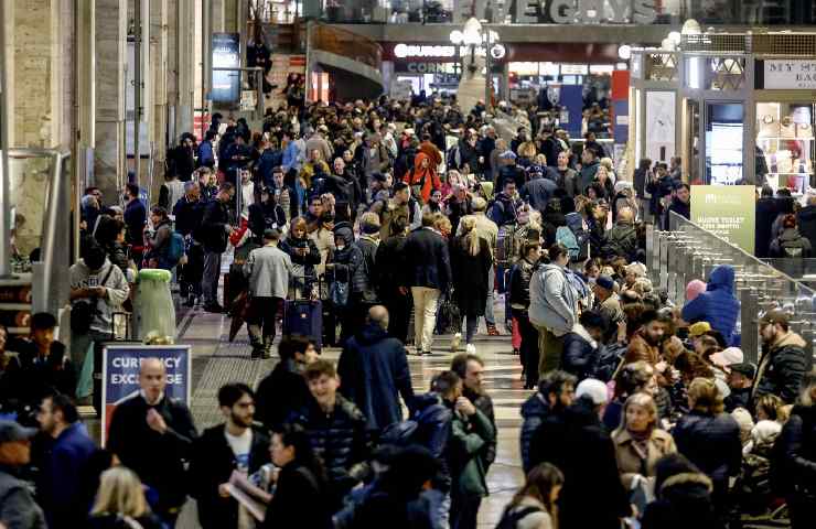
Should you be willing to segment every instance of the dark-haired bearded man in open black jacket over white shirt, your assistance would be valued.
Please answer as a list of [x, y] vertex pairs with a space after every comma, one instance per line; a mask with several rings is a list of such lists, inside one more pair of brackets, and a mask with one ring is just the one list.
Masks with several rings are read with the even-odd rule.
[[253, 475], [269, 463], [269, 435], [253, 425], [255, 395], [244, 384], [227, 384], [218, 390], [218, 407], [226, 421], [204, 430], [190, 457], [191, 496], [197, 501], [198, 523], [204, 529], [238, 529], [238, 501], [225, 495], [234, 472]]

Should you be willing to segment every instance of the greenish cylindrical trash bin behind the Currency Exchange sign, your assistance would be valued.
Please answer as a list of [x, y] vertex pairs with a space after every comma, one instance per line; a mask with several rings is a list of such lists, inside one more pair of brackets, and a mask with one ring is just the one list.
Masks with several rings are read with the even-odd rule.
[[160, 336], [175, 337], [175, 306], [170, 293], [169, 270], [139, 270], [133, 299], [133, 338], [144, 339], [154, 331]]

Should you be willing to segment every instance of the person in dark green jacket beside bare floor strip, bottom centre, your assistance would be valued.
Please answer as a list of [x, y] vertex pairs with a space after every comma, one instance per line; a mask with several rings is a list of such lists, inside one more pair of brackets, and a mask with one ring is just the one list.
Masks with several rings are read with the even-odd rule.
[[453, 408], [448, 450], [452, 478], [450, 527], [475, 529], [479, 506], [487, 495], [485, 475], [490, 462], [482, 449], [494, 442], [496, 430], [466, 397], [460, 396]]

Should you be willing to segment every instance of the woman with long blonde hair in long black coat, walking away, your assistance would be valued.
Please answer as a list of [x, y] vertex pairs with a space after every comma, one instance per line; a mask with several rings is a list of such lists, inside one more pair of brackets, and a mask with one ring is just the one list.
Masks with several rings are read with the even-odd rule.
[[461, 235], [450, 242], [451, 270], [453, 276], [453, 299], [460, 314], [466, 317], [466, 350], [476, 350], [473, 336], [476, 334], [479, 317], [484, 316], [487, 304], [487, 279], [493, 262], [487, 241], [479, 237], [476, 217], [468, 215], [459, 223]]

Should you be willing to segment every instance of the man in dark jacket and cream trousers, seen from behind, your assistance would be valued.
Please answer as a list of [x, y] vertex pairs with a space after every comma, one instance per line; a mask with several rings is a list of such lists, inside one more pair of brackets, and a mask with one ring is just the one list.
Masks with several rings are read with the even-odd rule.
[[401, 287], [410, 288], [416, 307], [415, 345], [417, 354], [430, 354], [437, 326], [437, 301], [451, 284], [448, 245], [433, 228], [432, 214], [422, 215], [422, 228], [408, 236], [405, 244], [405, 277]]

